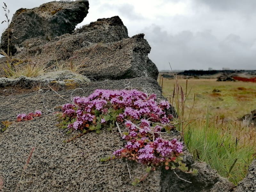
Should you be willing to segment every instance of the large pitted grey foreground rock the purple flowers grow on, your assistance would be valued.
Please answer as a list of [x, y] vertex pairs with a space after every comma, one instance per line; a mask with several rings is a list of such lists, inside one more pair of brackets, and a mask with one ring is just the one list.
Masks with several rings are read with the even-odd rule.
[[[118, 81], [90, 82], [82, 87], [84, 92], [76, 90], [73, 96], [89, 95], [95, 89], [136, 88], [148, 93], [156, 93], [158, 99], [164, 99], [161, 88], [156, 80], [143, 77], [122, 79]], [[72, 90], [47, 92], [44, 103], [52, 110], [54, 106], [70, 100]], [[132, 180], [145, 174], [144, 166], [128, 161], [132, 179], [129, 177], [126, 161], [119, 159], [100, 162], [101, 157], [109, 156], [124, 145], [117, 130], [103, 129], [100, 134], [95, 132], [63, 143], [71, 135], [58, 129], [56, 117], [43, 106], [43, 92], [34, 92], [0, 98], [0, 120], [13, 120], [17, 113], [28, 113], [36, 109], [43, 112], [42, 117], [32, 121], [13, 123], [0, 133], [0, 173], [4, 178], [4, 191], [13, 191], [26, 163], [32, 147], [36, 147], [28, 169], [24, 172], [18, 191], [214, 191], [218, 186], [220, 191], [231, 191], [233, 185], [221, 178], [216, 171], [205, 163], [194, 162], [191, 154], [184, 151], [184, 162], [197, 168], [199, 174], [192, 176], [177, 172], [181, 178], [192, 181], [189, 184], [180, 180], [172, 171], [158, 169], [148, 175], [146, 180], [137, 186], [132, 186]], [[62, 98], [63, 97], [63, 98]], [[13, 110], [15, 109], [15, 110]], [[173, 137], [181, 140], [178, 131], [164, 135], [165, 139]], [[170, 188], [170, 189], [169, 189]]]

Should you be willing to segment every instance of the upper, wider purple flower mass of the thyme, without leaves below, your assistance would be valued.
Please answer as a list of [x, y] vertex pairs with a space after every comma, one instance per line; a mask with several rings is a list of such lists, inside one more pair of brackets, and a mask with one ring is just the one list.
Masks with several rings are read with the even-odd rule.
[[[100, 115], [108, 115], [108, 109], [121, 109], [121, 113], [116, 115], [118, 122], [123, 122], [125, 118], [139, 120], [144, 117], [151, 117], [153, 122], [168, 124], [169, 120], [164, 109], [169, 108], [167, 101], [156, 102], [156, 95], [148, 95], [137, 90], [95, 90], [88, 97], [75, 97], [73, 103], [62, 106], [62, 116], [71, 117], [75, 122], [70, 123], [68, 128], [83, 130], [86, 124], [104, 124], [107, 121], [101, 118], [96, 122], [95, 110]], [[162, 121], [161, 121], [162, 119]], [[143, 124], [143, 123], [142, 123]], [[149, 126], [149, 124], [148, 124]], [[140, 134], [147, 134], [150, 129], [145, 126], [140, 130]], [[131, 132], [135, 137], [136, 133]]]

